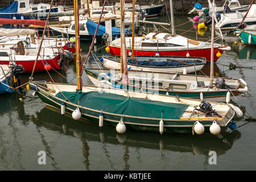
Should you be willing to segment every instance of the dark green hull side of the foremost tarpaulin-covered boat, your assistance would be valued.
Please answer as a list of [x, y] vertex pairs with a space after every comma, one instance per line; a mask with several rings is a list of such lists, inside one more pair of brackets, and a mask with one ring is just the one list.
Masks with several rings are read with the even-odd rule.
[[[59, 87], [59, 85], [58, 85]], [[76, 85], [73, 85], [73, 89], [76, 88]], [[64, 90], [63, 90], [64, 91]], [[48, 106], [55, 107], [56, 109], [61, 109], [61, 103], [65, 104], [65, 113], [72, 114], [77, 107], [79, 107], [81, 111], [81, 117], [83, 119], [89, 120], [94, 123], [99, 122], [99, 116], [102, 110], [94, 110], [86, 107], [82, 107], [81, 105], [72, 104], [71, 102], [65, 101], [59, 97], [54, 96], [53, 94], [46, 92], [46, 90], [38, 87], [37, 94], [39, 98]], [[108, 126], [117, 126], [121, 117], [123, 116], [123, 123], [125, 123], [128, 129], [133, 130], [141, 130], [141, 131], [154, 131], [159, 132], [159, 121], [160, 118], [141, 118], [141, 117], [133, 117], [130, 115], [121, 115], [114, 113], [106, 113], [104, 114], [104, 125]], [[228, 113], [225, 115], [226, 124], [219, 124], [221, 127], [226, 127], [227, 123], [231, 121], [234, 117], [234, 111], [229, 109]], [[192, 134], [193, 133], [193, 125], [197, 121], [198, 118], [195, 119], [163, 119], [164, 121], [164, 133], [183, 133], [183, 134]], [[80, 119], [82, 121], [82, 119]], [[209, 127], [212, 125], [212, 119], [202, 119], [200, 123], [204, 125], [205, 133], [209, 133]], [[218, 122], [218, 121], [217, 121]]]

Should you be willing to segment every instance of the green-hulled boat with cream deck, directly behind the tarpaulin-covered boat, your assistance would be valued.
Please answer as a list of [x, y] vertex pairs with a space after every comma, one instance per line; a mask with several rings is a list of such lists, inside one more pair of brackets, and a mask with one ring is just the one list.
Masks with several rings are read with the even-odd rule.
[[228, 92], [232, 92], [231, 97], [247, 92], [246, 82], [238, 78], [221, 78], [223, 81], [221, 85], [221, 83], [216, 84], [218, 78], [215, 77], [213, 80], [215, 85], [210, 88], [210, 79], [206, 76], [129, 71], [130, 81], [126, 85], [119, 79], [119, 70], [84, 68], [84, 71], [96, 86], [195, 99], [201, 98], [201, 100], [214, 102], [225, 102]]

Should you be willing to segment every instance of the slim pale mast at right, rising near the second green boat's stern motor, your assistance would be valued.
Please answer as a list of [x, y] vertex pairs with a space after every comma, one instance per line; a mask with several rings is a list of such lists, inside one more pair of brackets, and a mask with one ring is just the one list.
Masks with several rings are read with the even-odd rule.
[[212, 42], [210, 48], [210, 88], [213, 83], [213, 46], [214, 46], [214, 0], [212, 1]]

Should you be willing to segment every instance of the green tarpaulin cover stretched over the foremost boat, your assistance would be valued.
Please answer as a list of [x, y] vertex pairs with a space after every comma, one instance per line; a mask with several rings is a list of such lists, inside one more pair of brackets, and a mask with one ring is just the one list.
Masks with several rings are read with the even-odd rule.
[[[135, 117], [179, 119], [188, 105], [130, 98], [106, 92], [62, 92], [73, 104], [109, 113], [132, 115]], [[61, 93], [56, 97], [66, 100]]]

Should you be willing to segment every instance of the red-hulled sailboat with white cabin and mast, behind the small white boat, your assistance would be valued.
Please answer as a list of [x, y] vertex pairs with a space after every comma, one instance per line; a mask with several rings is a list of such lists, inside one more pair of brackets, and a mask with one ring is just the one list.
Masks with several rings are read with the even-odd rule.
[[[137, 56], [191, 56], [191, 57], [205, 57], [210, 61], [211, 46], [208, 42], [201, 42], [185, 38], [184, 36], [176, 35], [174, 28], [174, 15], [171, 7], [171, 23], [172, 33], [151, 32], [146, 36], [135, 37], [134, 55]], [[127, 54], [131, 51], [131, 39], [126, 39]], [[121, 39], [115, 39], [109, 44], [109, 52], [111, 55], [120, 56], [121, 54]], [[229, 46], [222, 46], [221, 44], [214, 44], [214, 61], [224, 51], [230, 51]]]

